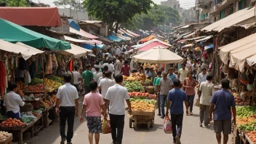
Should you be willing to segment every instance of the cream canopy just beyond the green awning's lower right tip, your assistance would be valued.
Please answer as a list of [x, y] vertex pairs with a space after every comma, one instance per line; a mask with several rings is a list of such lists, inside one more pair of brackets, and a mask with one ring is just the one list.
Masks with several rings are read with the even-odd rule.
[[84, 55], [87, 55], [87, 52], [92, 52], [92, 50], [84, 49], [82, 47], [76, 46], [75, 44], [71, 44], [71, 49], [68, 50], [59, 50], [56, 51], [63, 55], [73, 55], [74, 57], [83, 57]]

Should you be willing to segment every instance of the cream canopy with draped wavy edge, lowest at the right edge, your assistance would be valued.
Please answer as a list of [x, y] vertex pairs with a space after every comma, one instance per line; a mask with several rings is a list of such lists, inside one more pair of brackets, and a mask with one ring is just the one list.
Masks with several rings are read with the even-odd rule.
[[[227, 44], [224, 47], [220, 47], [220, 60], [226, 65], [228, 64], [228, 56], [230, 56], [230, 68], [235, 68], [237, 71], [244, 72], [245, 62], [249, 57], [256, 55], [256, 33], [239, 39], [231, 44]], [[249, 59], [250, 60], [250, 59]], [[251, 60], [249, 63], [255, 63]]]

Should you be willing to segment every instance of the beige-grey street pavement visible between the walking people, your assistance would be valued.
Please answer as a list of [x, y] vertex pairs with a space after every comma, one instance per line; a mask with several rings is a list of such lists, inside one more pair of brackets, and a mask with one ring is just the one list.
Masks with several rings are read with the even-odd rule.
[[[82, 97], [80, 97], [81, 99]], [[80, 100], [81, 101], [81, 100]], [[80, 103], [81, 106], [81, 103]], [[156, 110], [156, 114], [157, 114]], [[183, 134], [181, 142], [183, 144], [216, 144], [215, 133], [212, 127], [199, 127], [199, 108], [195, 107], [193, 110], [193, 116], [184, 116], [183, 120]], [[124, 144], [157, 144], [157, 143], [172, 143], [172, 135], [165, 134], [163, 130], [164, 120], [156, 115], [155, 124], [152, 129], [146, 129], [146, 126], [142, 126], [137, 130], [129, 128], [129, 118], [126, 116], [124, 124]], [[74, 135], [72, 139], [73, 144], [89, 143], [88, 138], [87, 121], [82, 124], [79, 122], [79, 118], [75, 119]], [[231, 136], [229, 137], [231, 141]], [[25, 140], [27, 144], [59, 144], [60, 132], [59, 122], [49, 126], [47, 129], [39, 132], [38, 136], [35, 136], [29, 140]], [[100, 135], [100, 143], [110, 144], [111, 134]]]

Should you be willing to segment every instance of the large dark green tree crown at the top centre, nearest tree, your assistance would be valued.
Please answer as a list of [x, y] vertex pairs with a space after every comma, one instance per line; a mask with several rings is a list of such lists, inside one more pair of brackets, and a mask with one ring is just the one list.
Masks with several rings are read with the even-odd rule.
[[153, 4], [151, 0], [84, 0], [83, 2], [89, 16], [108, 23], [111, 31], [113, 24], [116, 23], [116, 32], [119, 24], [127, 23], [137, 14], [147, 14], [151, 4]]

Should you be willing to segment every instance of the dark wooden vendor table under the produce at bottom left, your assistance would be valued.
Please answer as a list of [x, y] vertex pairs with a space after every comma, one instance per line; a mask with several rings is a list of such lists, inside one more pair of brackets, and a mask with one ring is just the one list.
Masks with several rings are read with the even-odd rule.
[[31, 132], [31, 137], [33, 137], [34, 133], [39, 132], [39, 130], [43, 127], [42, 125], [39, 127], [36, 126], [36, 132], [34, 131], [35, 130], [34, 124], [36, 124], [37, 121], [42, 120], [41, 118], [42, 118], [42, 113], [40, 113], [39, 116], [37, 116], [36, 121], [31, 122], [30, 124], [26, 125], [25, 127], [0, 127], [0, 130], [6, 131], [6, 132], [17, 133], [17, 135], [19, 137], [18, 144], [22, 144], [23, 143], [23, 132], [25, 132], [29, 129]]

